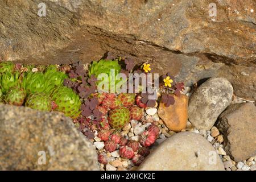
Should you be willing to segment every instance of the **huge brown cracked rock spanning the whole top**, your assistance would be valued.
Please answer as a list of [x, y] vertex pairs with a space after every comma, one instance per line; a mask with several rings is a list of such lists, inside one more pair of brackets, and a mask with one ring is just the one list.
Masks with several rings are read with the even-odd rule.
[[[42, 2], [45, 17], [38, 16]], [[170, 72], [187, 86], [218, 74], [236, 82], [236, 75], [245, 72], [235, 93], [255, 100], [250, 92], [256, 89], [250, 82], [254, 77], [247, 72], [255, 70], [254, 0], [217, 1], [215, 22], [208, 13], [210, 2], [200, 0], [0, 3], [0, 60], [88, 63], [112, 51], [149, 61], [152, 71]], [[229, 76], [230, 65], [242, 67]]]

